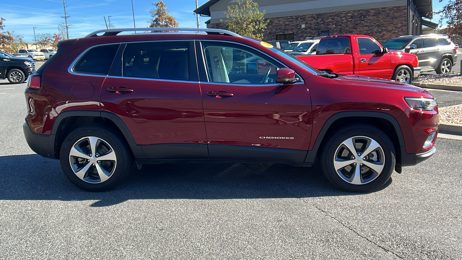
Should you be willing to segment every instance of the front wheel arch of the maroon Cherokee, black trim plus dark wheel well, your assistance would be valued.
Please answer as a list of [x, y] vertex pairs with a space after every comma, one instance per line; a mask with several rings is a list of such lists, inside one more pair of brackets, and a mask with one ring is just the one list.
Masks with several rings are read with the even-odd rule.
[[[348, 121], [347, 121], [348, 119]], [[367, 123], [382, 129], [393, 143], [396, 153], [395, 170], [401, 173], [401, 147], [405, 147], [404, 137], [398, 121], [389, 114], [373, 111], [344, 111], [332, 115], [322, 126], [321, 131], [316, 137], [313, 149], [309, 150], [305, 161], [314, 163], [322, 146], [327, 142], [331, 133], [337, 129], [337, 126], [348, 124], [350, 121], [358, 123]], [[312, 137], [314, 138], [314, 136]]]

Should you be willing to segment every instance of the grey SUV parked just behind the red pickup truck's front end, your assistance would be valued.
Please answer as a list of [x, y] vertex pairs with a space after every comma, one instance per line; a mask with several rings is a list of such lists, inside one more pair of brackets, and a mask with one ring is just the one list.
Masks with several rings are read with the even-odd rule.
[[422, 72], [449, 73], [457, 63], [457, 47], [445, 34], [401, 36], [388, 40], [383, 46], [417, 55]]

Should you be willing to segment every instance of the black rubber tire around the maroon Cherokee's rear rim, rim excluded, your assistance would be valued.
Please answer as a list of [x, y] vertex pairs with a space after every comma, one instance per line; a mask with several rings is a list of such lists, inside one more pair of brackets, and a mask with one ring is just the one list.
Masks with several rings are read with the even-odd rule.
[[[101, 183], [88, 183], [84, 180], [81, 180], [71, 168], [69, 162], [69, 153], [74, 145], [79, 139], [87, 136], [96, 136], [103, 139], [105, 142], [109, 143], [109, 145], [114, 149], [116, 153], [116, 170], [110, 178]], [[62, 143], [61, 152], [60, 152], [60, 162], [61, 168], [66, 175], [67, 179], [70, 180], [75, 186], [79, 187], [80, 189], [91, 191], [91, 192], [99, 192], [99, 191], [106, 191], [117, 184], [119, 184], [123, 179], [125, 179], [127, 172], [129, 171], [131, 165], [131, 157], [127, 153], [127, 148], [124, 147], [123, 142], [120, 138], [114, 134], [112, 134], [109, 130], [101, 128], [101, 127], [80, 127], [74, 131], [72, 131]]]

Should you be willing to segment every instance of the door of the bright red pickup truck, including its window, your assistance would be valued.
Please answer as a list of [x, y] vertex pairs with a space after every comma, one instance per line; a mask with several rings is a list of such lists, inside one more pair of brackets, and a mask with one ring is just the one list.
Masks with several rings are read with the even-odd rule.
[[358, 37], [359, 75], [390, 79], [391, 68], [389, 53], [382, 53], [382, 48], [371, 38]]

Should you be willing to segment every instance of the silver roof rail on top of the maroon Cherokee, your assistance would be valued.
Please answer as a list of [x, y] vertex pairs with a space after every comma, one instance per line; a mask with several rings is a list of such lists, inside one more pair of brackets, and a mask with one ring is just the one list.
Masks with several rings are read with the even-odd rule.
[[222, 29], [176, 28], [176, 27], [142, 27], [142, 28], [105, 29], [105, 30], [94, 31], [90, 33], [89, 35], [85, 36], [85, 38], [96, 37], [98, 36], [97, 35], [98, 33], [102, 33], [102, 32], [104, 32], [104, 34], [101, 36], [117, 35], [121, 33], [122, 31], [195, 31], [195, 32], [207, 32], [207, 34], [221, 34], [221, 35], [228, 35], [228, 36], [242, 38], [242, 36], [240, 36], [239, 34], [235, 32], [222, 30]]

